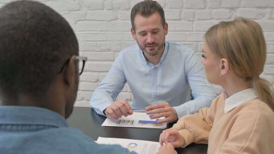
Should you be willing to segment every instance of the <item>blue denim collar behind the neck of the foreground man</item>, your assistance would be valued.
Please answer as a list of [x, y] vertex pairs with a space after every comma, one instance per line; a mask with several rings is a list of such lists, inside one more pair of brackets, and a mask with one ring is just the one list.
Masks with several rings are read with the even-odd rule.
[[1, 124], [68, 127], [65, 119], [59, 113], [46, 108], [32, 106], [0, 106]]

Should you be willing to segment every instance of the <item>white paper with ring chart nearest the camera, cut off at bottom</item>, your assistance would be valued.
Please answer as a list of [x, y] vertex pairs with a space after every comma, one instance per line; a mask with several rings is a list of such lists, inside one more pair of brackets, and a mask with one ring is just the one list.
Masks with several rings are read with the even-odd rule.
[[155, 154], [160, 147], [159, 142], [145, 141], [145, 140], [133, 140], [133, 139], [123, 139], [123, 138], [105, 138], [98, 137], [98, 144], [118, 144], [129, 151], [135, 151], [136, 153], [148, 153]]

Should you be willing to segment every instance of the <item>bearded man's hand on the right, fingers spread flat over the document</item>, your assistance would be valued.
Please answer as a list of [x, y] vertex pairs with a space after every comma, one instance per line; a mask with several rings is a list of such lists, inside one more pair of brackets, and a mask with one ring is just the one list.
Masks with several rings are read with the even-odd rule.
[[150, 119], [164, 117], [164, 119], [157, 120], [159, 123], [174, 122], [178, 119], [176, 110], [168, 102], [150, 105], [146, 107], [146, 110], [147, 114], [153, 114], [150, 116]]

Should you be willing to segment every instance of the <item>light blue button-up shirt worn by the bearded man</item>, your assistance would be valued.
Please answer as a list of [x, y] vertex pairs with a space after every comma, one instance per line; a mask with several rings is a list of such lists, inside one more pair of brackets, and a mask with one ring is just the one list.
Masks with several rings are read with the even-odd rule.
[[[122, 50], [106, 78], [94, 91], [90, 105], [102, 111], [116, 100], [128, 83], [133, 94], [132, 108], [168, 102], [178, 117], [209, 107], [216, 97], [205, 77], [201, 58], [184, 45], [165, 42], [163, 55], [156, 65], [148, 62], [139, 46]], [[190, 100], [191, 94], [194, 100]]]

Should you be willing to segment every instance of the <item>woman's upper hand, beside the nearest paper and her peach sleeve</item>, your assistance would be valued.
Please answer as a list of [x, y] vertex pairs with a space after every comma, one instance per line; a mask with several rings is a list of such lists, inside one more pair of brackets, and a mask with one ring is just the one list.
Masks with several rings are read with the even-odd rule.
[[167, 143], [171, 143], [174, 147], [180, 147], [185, 144], [185, 139], [182, 135], [179, 134], [178, 130], [169, 128], [160, 134], [159, 142], [161, 146], [164, 146], [164, 144]]

